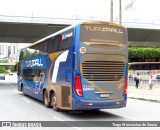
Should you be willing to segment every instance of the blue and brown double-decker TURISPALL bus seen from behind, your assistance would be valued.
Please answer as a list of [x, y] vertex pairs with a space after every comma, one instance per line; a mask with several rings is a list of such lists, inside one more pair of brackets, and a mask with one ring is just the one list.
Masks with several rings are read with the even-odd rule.
[[20, 52], [18, 90], [54, 110], [126, 106], [126, 28], [110, 22], [81, 22]]

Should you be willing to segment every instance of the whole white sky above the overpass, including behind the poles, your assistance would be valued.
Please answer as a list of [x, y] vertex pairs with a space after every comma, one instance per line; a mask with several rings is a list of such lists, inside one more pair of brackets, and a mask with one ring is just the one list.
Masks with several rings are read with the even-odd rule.
[[[114, 20], [119, 19], [119, 0]], [[0, 15], [110, 20], [110, 0], [0, 0]], [[131, 4], [133, 3], [133, 4]], [[132, 6], [125, 9], [127, 5]], [[123, 21], [160, 20], [160, 0], [122, 0]]]

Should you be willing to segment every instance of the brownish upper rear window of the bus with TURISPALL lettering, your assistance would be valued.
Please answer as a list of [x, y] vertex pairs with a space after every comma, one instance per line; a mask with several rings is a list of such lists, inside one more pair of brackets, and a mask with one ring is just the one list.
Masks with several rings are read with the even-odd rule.
[[94, 47], [122, 47], [126, 43], [125, 28], [107, 24], [82, 24], [80, 40]]

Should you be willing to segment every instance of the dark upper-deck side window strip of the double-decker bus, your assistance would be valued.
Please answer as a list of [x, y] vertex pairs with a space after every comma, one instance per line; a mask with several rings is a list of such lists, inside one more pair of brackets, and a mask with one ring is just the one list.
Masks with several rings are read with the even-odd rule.
[[25, 58], [66, 50], [72, 47], [73, 29], [49, 38], [29, 48], [25, 48], [20, 54], [20, 60]]

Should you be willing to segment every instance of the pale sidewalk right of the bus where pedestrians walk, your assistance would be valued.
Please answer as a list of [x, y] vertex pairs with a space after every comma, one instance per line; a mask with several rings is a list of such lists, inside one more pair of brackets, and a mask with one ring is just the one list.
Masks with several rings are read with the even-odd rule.
[[128, 86], [128, 98], [139, 99], [160, 103], [160, 86], [153, 86], [152, 90], [147, 85], [136, 89], [135, 86]]

